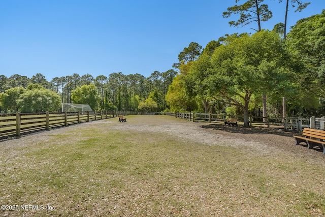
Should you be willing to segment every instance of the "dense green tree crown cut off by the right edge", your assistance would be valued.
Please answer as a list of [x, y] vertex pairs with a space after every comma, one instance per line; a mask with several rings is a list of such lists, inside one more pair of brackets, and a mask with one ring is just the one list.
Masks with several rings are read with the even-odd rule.
[[287, 34], [286, 44], [301, 62], [299, 83], [324, 97], [325, 12], [299, 20]]

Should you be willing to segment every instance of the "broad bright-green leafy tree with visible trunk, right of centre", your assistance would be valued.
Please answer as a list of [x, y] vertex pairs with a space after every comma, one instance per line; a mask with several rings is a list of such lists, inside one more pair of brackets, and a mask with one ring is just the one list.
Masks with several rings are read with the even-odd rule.
[[[278, 34], [259, 31], [253, 35], [229, 37], [215, 49], [201, 92], [225, 104], [240, 107], [245, 126], [249, 126], [249, 103], [253, 93], [268, 92], [286, 79], [279, 70], [283, 45]], [[203, 67], [204, 68], [204, 67]], [[197, 73], [200, 70], [197, 70]], [[197, 84], [197, 87], [200, 84]], [[200, 90], [200, 89], [199, 89]]]

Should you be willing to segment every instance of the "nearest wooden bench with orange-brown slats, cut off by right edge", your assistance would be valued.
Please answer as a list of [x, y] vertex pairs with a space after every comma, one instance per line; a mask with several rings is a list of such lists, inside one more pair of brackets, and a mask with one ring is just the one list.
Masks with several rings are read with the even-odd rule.
[[305, 142], [307, 144], [307, 148], [310, 149], [314, 146], [318, 146], [325, 155], [325, 131], [316, 130], [310, 128], [304, 128], [303, 136], [296, 136], [296, 144], [300, 144], [301, 142]]

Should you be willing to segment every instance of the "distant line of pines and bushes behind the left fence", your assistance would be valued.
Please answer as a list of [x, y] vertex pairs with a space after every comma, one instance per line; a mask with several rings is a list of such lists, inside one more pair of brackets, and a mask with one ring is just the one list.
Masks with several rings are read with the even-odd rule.
[[1, 75], [0, 108], [2, 113], [56, 112], [62, 102], [68, 102], [89, 104], [92, 110], [164, 111], [168, 87], [176, 74], [174, 69], [154, 71], [148, 78], [122, 73], [95, 78], [73, 74], [50, 82], [42, 74], [31, 78]]

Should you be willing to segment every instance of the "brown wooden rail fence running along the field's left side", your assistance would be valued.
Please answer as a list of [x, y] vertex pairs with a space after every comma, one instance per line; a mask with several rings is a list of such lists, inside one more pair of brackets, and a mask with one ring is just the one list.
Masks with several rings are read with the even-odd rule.
[[125, 111], [0, 114], [0, 138], [134, 114]]

